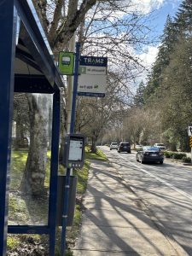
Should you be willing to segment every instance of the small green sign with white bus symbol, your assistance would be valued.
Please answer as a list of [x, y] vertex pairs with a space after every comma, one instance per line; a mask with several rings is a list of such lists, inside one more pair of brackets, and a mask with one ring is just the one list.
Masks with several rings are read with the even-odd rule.
[[59, 70], [63, 75], [73, 75], [74, 53], [61, 51], [59, 53]]

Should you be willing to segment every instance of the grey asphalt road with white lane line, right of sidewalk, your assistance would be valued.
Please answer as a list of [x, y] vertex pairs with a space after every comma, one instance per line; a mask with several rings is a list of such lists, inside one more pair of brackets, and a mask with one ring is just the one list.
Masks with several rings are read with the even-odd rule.
[[141, 164], [136, 153], [100, 147], [125, 182], [142, 199], [162, 231], [192, 255], [192, 167], [165, 160]]

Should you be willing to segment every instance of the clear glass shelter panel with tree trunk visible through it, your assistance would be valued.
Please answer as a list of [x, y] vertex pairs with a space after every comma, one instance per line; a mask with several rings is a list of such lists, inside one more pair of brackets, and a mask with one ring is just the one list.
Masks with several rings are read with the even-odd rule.
[[47, 225], [52, 95], [15, 94], [9, 225]]

